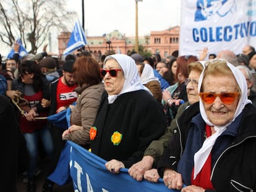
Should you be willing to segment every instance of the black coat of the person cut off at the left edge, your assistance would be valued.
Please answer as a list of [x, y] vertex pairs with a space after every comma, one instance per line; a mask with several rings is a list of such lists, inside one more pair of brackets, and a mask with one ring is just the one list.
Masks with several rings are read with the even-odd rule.
[[14, 107], [6, 96], [0, 95], [0, 122], [2, 147], [1, 191], [17, 191], [16, 179], [19, 171], [28, 169], [28, 152], [26, 141], [19, 130]]

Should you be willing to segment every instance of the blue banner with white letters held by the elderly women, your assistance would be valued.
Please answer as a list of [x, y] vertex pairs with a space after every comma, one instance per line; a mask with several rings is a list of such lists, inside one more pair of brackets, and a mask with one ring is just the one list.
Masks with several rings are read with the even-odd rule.
[[70, 148], [70, 176], [73, 180], [75, 192], [82, 191], [177, 191], [169, 190], [160, 179], [158, 183], [150, 183], [146, 180], [137, 182], [130, 177], [128, 169], [114, 174], [109, 172], [106, 161], [92, 152], [88, 152], [78, 144], [67, 141]]

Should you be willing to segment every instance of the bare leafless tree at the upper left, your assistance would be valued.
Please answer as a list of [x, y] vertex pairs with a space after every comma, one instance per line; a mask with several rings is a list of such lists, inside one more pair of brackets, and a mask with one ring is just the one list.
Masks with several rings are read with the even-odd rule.
[[36, 54], [50, 30], [66, 30], [74, 12], [64, 9], [64, 0], [4, 0], [0, 2], [0, 38], [12, 46], [17, 38], [30, 53]]

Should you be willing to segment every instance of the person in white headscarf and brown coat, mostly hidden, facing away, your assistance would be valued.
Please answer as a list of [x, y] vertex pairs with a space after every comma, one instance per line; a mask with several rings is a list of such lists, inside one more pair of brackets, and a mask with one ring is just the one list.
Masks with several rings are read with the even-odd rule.
[[153, 97], [161, 103], [162, 101], [162, 90], [161, 84], [157, 77], [155, 77], [153, 68], [148, 64], [137, 63], [137, 69], [140, 76], [140, 83], [150, 90]]

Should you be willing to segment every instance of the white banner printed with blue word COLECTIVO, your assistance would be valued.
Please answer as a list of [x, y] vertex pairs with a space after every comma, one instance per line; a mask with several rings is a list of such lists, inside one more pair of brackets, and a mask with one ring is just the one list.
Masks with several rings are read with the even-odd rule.
[[179, 55], [256, 46], [256, 0], [182, 0]]

